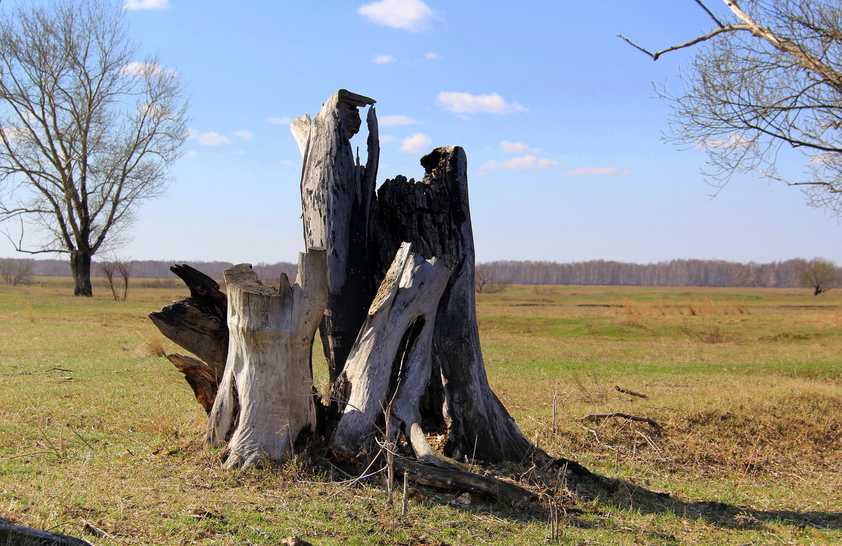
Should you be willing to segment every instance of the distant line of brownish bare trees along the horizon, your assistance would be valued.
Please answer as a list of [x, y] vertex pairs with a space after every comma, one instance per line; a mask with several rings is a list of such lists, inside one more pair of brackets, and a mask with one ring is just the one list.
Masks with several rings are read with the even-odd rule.
[[[63, 260], [31, 260], [35, 276], [71, 276], [70, 265]], [[175, 261], [132, 260], [131, 276], [141, 279], [174, 278], [169, 266]], [[179, 262], [184, 263], [184, 262]], [[214, 279], [231, 262], [187, 261]], [[831, 262], [832, 263], [832, 262]], [[557, 263], [551, 261], [498, 260], [477, 265], [494, 285], [626, 285], [626, 286], [804, 286], [800, 277], [808, 262], [801, 258], [758, 264], [725, 260], [670, 260], [653, 264], [633, 264], [610, 260]], [[835, 265], [834, 265], [835, 266]], [[253, 265], [261, 279], [274, 284], [281, 271], [290, 279], [296, 265], [289, 262]], [[842, 275], [842, 268], [836, 268]], [[839, 278], [842, 278], [840, 276]]]

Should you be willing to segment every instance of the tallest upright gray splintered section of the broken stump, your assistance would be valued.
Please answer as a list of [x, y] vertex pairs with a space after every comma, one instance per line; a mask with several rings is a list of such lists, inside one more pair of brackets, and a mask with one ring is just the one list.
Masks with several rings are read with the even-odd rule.
[[328, 251], [328, 311], [320, 327], [331, 383], [365, 320], [375, 283], [369, 268], [368, 218], [374, 199], [380, 143], [373, 107], [366, 116], [368, 158], [354, 158], [350, 137], [360, 130], [360, 106], [374, 104], [340, 89], [314, 118], [291, 124], [301, 169], [301, 207], [308, 249]]

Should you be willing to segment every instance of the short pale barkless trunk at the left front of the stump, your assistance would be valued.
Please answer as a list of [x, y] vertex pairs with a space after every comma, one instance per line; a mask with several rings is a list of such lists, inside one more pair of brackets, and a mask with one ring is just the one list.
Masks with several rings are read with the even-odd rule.
[[248, 264], [225, 278], [230, 350], [205, 441], [228, 442], [226, 468], [280, 462], [316, 426], [310, 353], [327, 300], [326, 255], [299, 254], [296, 284], [282, 276], [280, 290]]

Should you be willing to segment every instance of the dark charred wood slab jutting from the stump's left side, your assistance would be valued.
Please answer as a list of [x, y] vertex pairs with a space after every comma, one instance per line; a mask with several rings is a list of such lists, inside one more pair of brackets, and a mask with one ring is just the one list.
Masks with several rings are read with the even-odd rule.
[[190, 289], [190, 297], [157, 311], [149, 318], [161, 333], [190, 351], [222, 377], [228, 355], [226, 297], [219, 285], [189, 265], [169, 268]]

